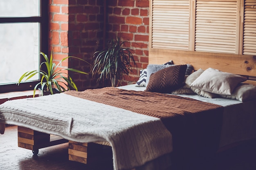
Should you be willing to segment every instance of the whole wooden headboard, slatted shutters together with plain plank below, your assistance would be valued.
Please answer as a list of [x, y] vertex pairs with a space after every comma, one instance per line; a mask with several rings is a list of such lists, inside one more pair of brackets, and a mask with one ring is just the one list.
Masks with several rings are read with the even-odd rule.
[[211, 67], [256, 85], [255, 9], [253, 0], [150, 0], [149, 64]]

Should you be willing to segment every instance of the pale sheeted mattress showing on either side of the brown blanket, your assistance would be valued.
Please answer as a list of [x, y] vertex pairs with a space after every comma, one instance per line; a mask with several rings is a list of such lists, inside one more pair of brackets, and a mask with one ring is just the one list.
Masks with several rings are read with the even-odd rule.
[[[146, 87], [135, 87], [134, 84], [119, 88], [144, 91]], [[219, 147], [228, 146], [240, 141], [256, 138], [256, 100], [240, 102], [234, 99], [207, 98], [199, 95], [179, 95], [224, 106], [223, 123]]]

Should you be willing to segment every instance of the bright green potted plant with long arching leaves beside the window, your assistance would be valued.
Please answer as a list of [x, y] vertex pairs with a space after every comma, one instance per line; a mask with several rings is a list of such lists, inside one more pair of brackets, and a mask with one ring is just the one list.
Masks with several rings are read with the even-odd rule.
[[[63, 72], [63, 71], [74, 71], [76, 73], [82, 73], [82, 74], [88, 74], [85, 73], [83, 71], [79, 71], [76, 70], [74, 68], [62, 68], [57, 70], [58, 66], [60, 66], [60, 64], [68, 59], [68, 58], [75, 58], [78, 60], [82, 60], [84, 62], [86, 62], [85, 60], [78, 58], [78, 57], [73, 57], [73, 56], [68, 56], [63, 58], [58, 64], [54, 63], [53, 60], [53, 56], [52, 56], [52, 52], [51, 52], [51, 56], [50, 58], [47, 57], [47, 55], [43, 52], [40, 52], [40, 55], [43, 55], [45, 62], [42, 62], [40, 64], [40, 70], [34, 70], [34, 71], [28, 71], [26, 73], [24, 73], [20, 79], [18, 80], [18, 85], [20, 84], [20, 82], [22, 82], [22, 80], [26, 81], [28, 79], [30, 79], [31, 77], [33, 77], [36, 74], [40, 74], [41, 75], [41, 81], [36, 84], [36, 86], [34, 87], [34, 94], [33, 97], [35, 96], [36, 93], [36, 89], [38, 88], [39, 85], [41, 85], [41, 91], [42, 91], [42, 95], [44, 95], [44, 91], [46, 93], [49, 94], [54, 94], [56, 92], [54, 91], [58, 91], [57, 93], [61, 93], [63, 91], [66, 90], [70, 90], [70, 88], [73, 88], [74, 90], [78, 90], [76, 87], [76, 84], [73, 82], [72, 78], [70, 77], [70, 75], [68, 75], [67, 73]], [[88, 63], [88, 62], [86, 62]], [[88, 63], [89, 64], [89, 63]], [[45, 66], [47, 69], [46, 71], [41, 70], [42, 66]]]

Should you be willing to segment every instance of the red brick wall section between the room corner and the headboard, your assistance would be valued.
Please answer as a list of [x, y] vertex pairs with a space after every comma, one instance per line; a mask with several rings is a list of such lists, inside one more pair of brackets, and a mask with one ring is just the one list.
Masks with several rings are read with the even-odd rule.
[[135, 83], [148, 65], [149, 0], [108, 0], [108, 37], [118, 34], [130, 41], [138, 68], [122, 84]]

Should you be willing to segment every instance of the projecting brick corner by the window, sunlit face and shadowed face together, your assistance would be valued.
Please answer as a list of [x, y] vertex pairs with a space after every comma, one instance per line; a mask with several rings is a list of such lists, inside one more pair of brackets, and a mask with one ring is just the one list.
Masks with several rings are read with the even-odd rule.
[[[103, 44], [103, 0], [49, 0], [49, 50], [56, 62], [67, 56], [91, 62]], [[90, 73], [90, 64], [70, 59], [63, 68]], [[97, 87], [91, 74], [69, 72], [79, 90]]]

